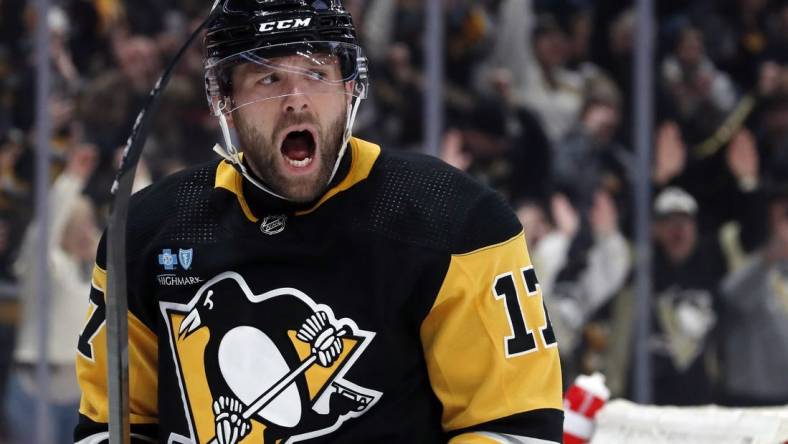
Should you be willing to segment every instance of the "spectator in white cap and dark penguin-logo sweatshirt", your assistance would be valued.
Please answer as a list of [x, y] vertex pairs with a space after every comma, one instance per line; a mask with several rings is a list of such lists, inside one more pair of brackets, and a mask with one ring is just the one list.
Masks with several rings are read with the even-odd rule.
[[712, 402], [713, 332], [718, 285], [726, 264], [716, 236], [698, 232], [698, 204], [680, 188], [666, 188], [654, 203], [653, 323], [650, 352], [654, 402]]

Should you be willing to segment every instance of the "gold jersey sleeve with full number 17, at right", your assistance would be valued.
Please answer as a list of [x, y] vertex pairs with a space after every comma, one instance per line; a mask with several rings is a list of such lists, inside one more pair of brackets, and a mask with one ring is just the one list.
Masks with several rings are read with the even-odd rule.
[[558, 348], [522, 231], [452, 255], [420, 333], [451, 443], [562, 442]]

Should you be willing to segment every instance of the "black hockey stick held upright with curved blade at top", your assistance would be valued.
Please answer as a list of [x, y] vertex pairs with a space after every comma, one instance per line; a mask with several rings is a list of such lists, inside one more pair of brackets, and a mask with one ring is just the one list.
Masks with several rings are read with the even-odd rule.
[[220, 2], [222, 0], [215, 1], [208, 17], [192, 32], [148, 94], [145, 106], [137, 115], [137, 120], [126, 141], [123, 159], [118, 167], [115, 182], [112, 184], [114, 199], [107, 227], [107, 381], [109, 385], [110, 444], [128, 444], [130, 439], [126, 219], [131, 189], [134, 184], [134, 174], [137, 170], [137, 162], [139, 162], [145, 147], [150, 121], [156, 115], [160, 105], [159, 96], [166, 88], [175, 66], [189, 45], [222, 9], [218, 7]]

